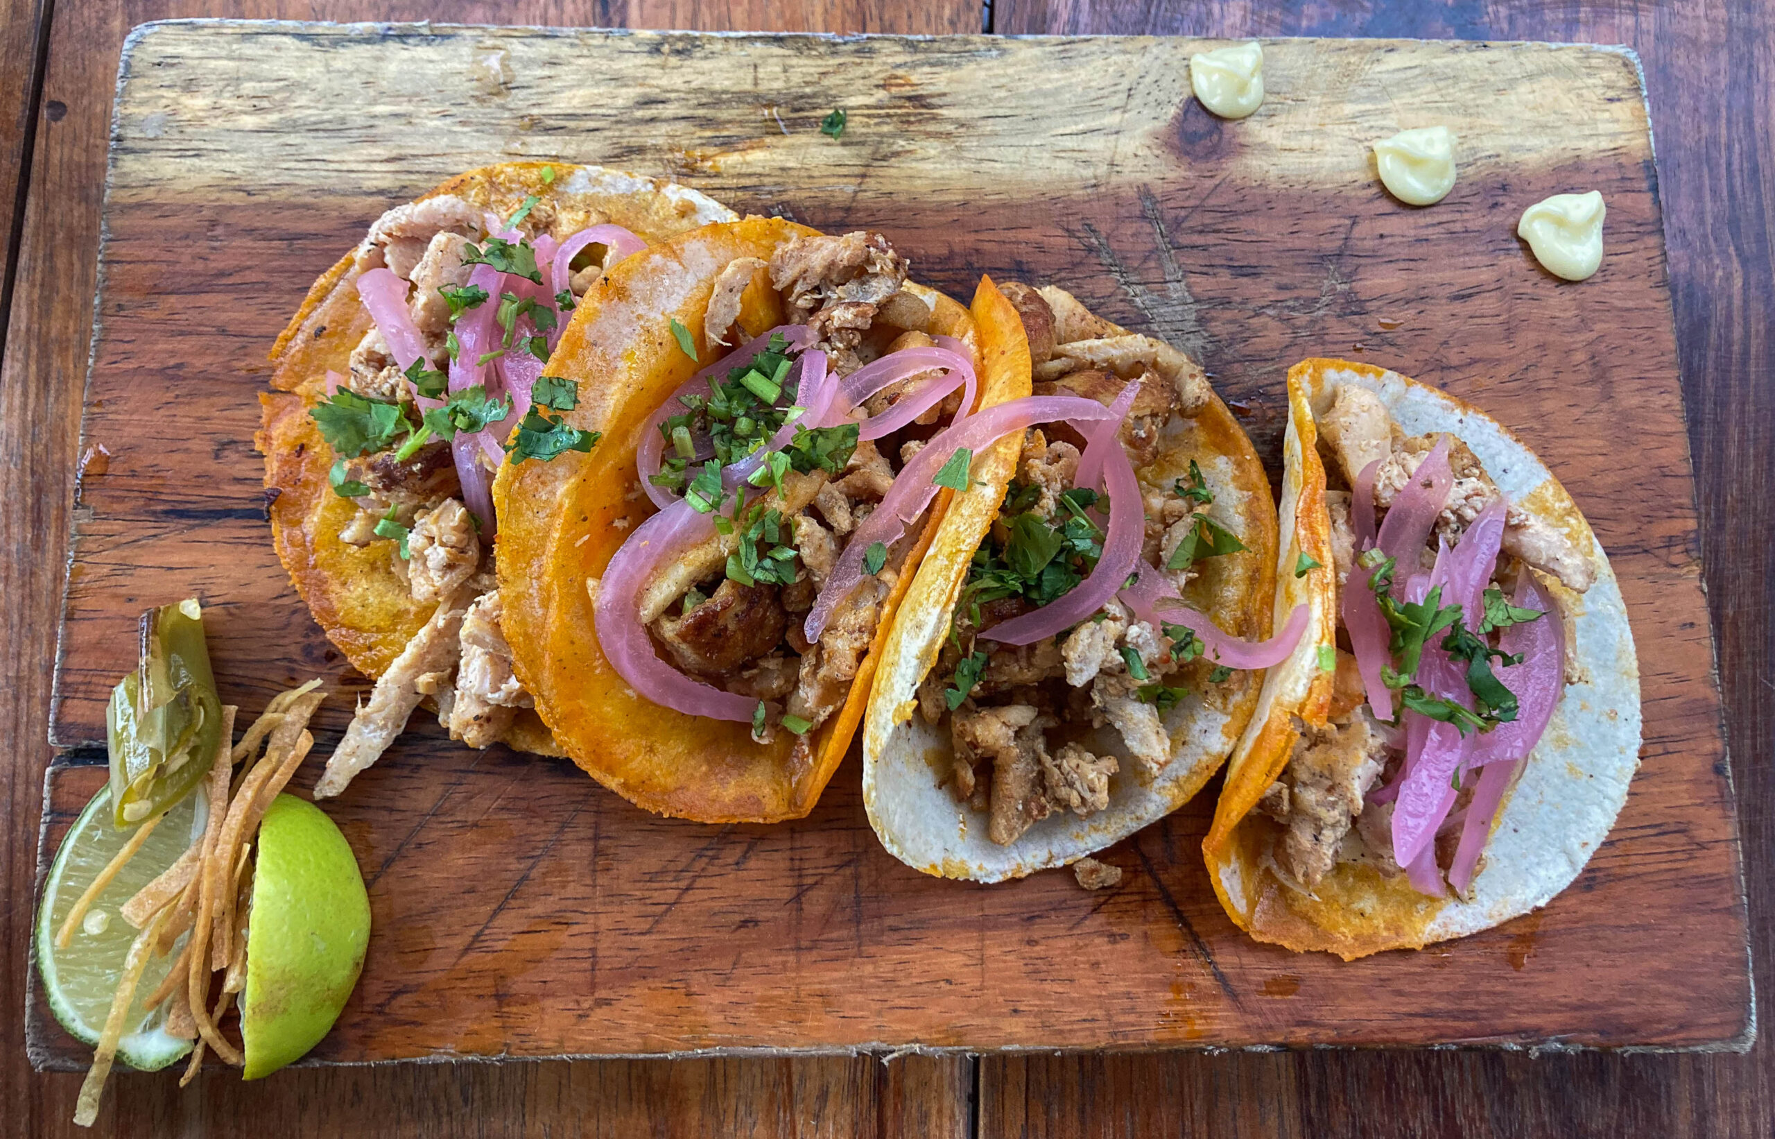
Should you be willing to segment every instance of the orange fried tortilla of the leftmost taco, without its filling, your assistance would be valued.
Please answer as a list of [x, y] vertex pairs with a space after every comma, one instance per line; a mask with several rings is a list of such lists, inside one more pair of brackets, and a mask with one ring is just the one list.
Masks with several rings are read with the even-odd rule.
[[[719, 203], [662, 179], [538, 162], [469, 171], [417, 201], [456, 195], [508, 217], [531, 194], [547, 203], [564, 231], [614, 222], [648, 242], [733, 217]], [[351, 350], [371, 327], [357, 279], [351, 251], [321, 274], [279, 336], [272, 348], [273, 391], [259, 396], [263, 418], [254, 442], [264, 455], [279, 560], [327, 638], [359, 672], [380, 677], [430, 620], [435, 602], [414, 601], [396, 572], [394, 542], [351, 546], [339, 538], [357, 506], [334, 494], [334, 453], [309, 418], [325, 400], [327, 373], [350, 373]], [[504, 739], [520, 750], [554, 752], [547, 729], [529, 711], [520, 711]]]

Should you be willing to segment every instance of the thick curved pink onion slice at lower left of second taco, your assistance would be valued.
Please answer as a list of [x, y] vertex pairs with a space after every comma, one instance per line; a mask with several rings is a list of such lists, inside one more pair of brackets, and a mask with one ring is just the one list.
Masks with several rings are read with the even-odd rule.
[[641, 590], [657, 569], [714, 533], [712, 517], [689, 503], [673, 503], [635, 528], [604, 570], [593, 602], [595, 627], [611, 666], [644, 698], [687, 716], [747, 721], [758, 707], [756, 698], [683, 675], [660, 659], [641, 624]]

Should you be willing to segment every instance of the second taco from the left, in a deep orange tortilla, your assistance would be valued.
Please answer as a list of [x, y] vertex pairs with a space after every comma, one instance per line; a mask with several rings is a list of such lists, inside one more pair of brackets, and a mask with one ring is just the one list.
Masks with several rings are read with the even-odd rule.
[[[513, 670], [559, 746], [646, 810], [806, 816], [928, 544], [919, 448], [1006, 361], [875, 233], [708, 226], [623, 261], [550, 373], [602, 441], [493, 487]], [[985, 315], [976, 323], [976, 315]]]

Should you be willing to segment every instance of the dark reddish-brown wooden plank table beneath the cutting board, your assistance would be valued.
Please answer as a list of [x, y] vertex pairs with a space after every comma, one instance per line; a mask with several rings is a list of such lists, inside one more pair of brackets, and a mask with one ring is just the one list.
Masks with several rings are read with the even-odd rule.
[[[18, 1031], [34, 906], [36, 821], [48, 761], [44, 725], [55, 613], [76, 466], [80, 386], [91, 327], [99, 183], [112, 76], [126, 30], [170, 16], [628, 23], [761, 30], [966, 32], [982, 11], [941, 0], [889, 11], [825, 4], [277, 4], [96, 0], [23, 4], [0, 23], [0, 219], [11, 235], [0, 378], [0, 766], [7, 808], [7, 906], [0, 944], [9, 1134], [71, 1130], [78, 1077], [36, 1075]], [[1775, 355], [1757, 179], [1771, 158], [1768, 107], [1775, 30], [1757, 7], [1684, 0], [1539, 5], [1448, 0], [1369, 4], [1356, 14], [1294, 14], [1283, 4], [1225, 4], [1154, 16], [1143, 4], [998, 0], [996, 32], [1319, 34], [1628, 43], [1645, 60], [1661, 146], [1668, 263], [1684, 396], [1700, 487], [1706, 585], [1734, 745], [1747, 865], [1771, 853], [1770, 480]], [[1182, 7], [1182, 5], [1177, 5]], [[996, 9], [996, 11], [994, 11]], [[1518, 11], [1521, 9], [1521, 11]], [[7, 192], [11, 188], [11, 192]], [[1711, 528], [1711, 530], [1709, 530]], [[1693, 553], [1693, 551], [1679, 551]], [[1642, 647], [1654, 654], [1656, 645]], [[1761, 761], [1761, 762], [1759, 762]], [[1771, 945], [1770, 896], [1748, 878], [1757, 949]], [[1672, 936], [1679, 931], [1672, 931]], [[1770, 974], [1759, 961], [1766, 990]], [[1159, 1054], [932, 1059], [710, 1059], [293, 1070], [266, 1084], [211, 1073], [178, 1091], [160, 1075], [122, 1077], [101, 1127], [128, 1134], [1253, 1134], [1253, 1135], [1766, 1135], [1771, 1064], [1747, 1055], [1516, 1055], [1500, 1052]]]

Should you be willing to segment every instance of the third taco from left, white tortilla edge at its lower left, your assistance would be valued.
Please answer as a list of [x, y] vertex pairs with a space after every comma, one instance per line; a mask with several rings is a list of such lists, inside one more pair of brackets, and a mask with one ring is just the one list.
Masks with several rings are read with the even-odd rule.
[[1202, 368], [1063, 290], [1005, 291], [1031, 396], [978, 416], [999, 434], [976, 432], [987, 450], [888, 638], [863, 739], [888, 851], [978, 881], [1074, 862], [1189, 800], [1305, 622], [1264, 640], [1276, 508]]

